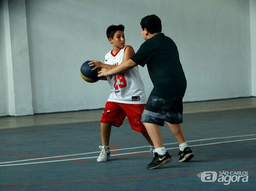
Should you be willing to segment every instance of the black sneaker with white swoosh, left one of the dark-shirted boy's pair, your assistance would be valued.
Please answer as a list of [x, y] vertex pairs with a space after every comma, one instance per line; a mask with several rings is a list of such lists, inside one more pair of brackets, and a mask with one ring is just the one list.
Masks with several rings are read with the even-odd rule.
[[169, 155], [168, 152], [166, 152], [164, 155], [159, 155], [157, 152], [155, 152], [153, 161], [149, 165], [147, 165], [147, 169], [158, 168], [171, 161], [172, 161], [172, 157]]

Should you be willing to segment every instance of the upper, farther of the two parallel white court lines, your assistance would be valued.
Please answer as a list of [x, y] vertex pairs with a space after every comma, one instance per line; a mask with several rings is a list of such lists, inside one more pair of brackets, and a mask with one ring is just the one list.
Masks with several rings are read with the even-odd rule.
[[[235, 138], [235, 137], [245, 137], [245, 136], [254, 136], [256, 134], [249, 134], [249, 135], [237, 135], [237, 136], [229, 136], [229, 137], [215, 137], [215, 138], [208, 138], [208, 139], [199, 139], [199, 140], [193, 140], [193, 141], [186, 141], [186, 142], [196, 142], [196, 141], [207, 141], [207, 140], [213, 140], [213, 139], [228, 139], [228, 138]], [[176, 143], [167, 143], [164, 145], [173, 145]], [[120, 148], [110, 151], [118, 151], [118, 150], [128, 150], [128, 149], [136, 149], [136, 148], [147, 148], [149, 146], [142, 146], [142, 147], [132, 147], [132, 148]], [[19, 160], [19, 161], [9, 161], [9, 162], [2, 162], [0, 164], [6, 164], [6, 163], [17, 163], [17, 162], [25, 162], [25, 161], [35, 161], [35, 160], [42, 160], [42, 159], [52, 159], [52, 158], [60, 158], [60, 157], [70, 157], [70, 156], [77, 156], [77, 155], [86, 155], [86, 154], [94, 154], [94, 153], [100, 153], [100, 151], [97, 152], [87, 152], [87, 153], [80, 153], [80, 154], [71, 154], [71, 155], [62, 155], [62, 156], [53, 156], [53, 157], [42, 157], [42, 158], [36, 158], [36, 159], [26, 159], [26, 160]]]

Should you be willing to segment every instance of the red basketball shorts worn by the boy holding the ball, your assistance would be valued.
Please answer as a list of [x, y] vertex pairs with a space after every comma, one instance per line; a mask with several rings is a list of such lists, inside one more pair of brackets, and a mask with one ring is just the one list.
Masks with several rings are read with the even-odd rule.
[[140, 121], [146, 104], [127, 104], [108, 101], [105, 105], [100, 122], [111, 123], [120, 127], [127, 116], [133, 130], [145, 132], [146, 128]]

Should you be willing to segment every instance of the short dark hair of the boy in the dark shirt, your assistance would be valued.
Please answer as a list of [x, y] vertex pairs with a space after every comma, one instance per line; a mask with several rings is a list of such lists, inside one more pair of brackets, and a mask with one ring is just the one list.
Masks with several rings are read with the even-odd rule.
[[162, 31], [161, 19], [157, 15], [148, 15], [141, 19], [141, 28], [145, 28], [149, 33], [153, 34]]

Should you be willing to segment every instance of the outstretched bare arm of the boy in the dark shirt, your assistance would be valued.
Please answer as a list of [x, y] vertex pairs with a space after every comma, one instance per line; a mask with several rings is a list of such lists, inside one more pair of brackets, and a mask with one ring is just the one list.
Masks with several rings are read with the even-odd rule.
[[106, 68], [102, 68], [99, 72], [98, 72], [98, 77], [102, 77], [102, 76], [109, 76], [112, 74], [120, 74], [126, 70], [130, 70], [133, 67], [138, 66], [137, 63], [135, 63], [134, 61], [132, 61], [131, 59], [124, 61], [122, 64], [111, 68], [111, 69], [106, 69]]

